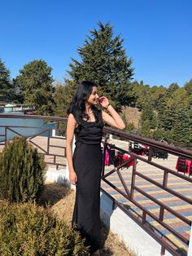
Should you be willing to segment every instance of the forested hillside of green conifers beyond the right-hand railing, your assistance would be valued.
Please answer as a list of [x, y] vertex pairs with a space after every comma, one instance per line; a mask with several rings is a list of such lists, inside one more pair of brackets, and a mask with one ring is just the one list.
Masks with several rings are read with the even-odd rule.
[[[192, 148], [192, 80], [179, 87], [148, 86], [133, 82], [129, 105], [141, 111], [139, 127], [128, 130], [151, 139], [165, 139], [180, 147]], [[135, 110], [132, 112], [137, 113]], [[137, 115], [135, 116], [137, 117]]]

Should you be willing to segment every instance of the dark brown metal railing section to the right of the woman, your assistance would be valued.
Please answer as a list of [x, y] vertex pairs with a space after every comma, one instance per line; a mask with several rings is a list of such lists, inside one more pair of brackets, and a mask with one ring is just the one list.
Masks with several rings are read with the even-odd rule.
[[[172, 177], [177, 177], [180, 180], [185, 180], [185, 182], [190, 184], [190, 188], [192, 185], [192, 179], [189, 176], [186, 176], [184, 174], [178, 173], [176, 170], [172, 170], [166, 166], [162, 166], [159, 163], [156, 163], [155, 161], [152, 160], [152, 154], [154, 149], [159, 149], [159, 150], [164, 150], [164, 152], [171, 153], [172, 155], [175, 155], [177, 157], [184, 157], [187, 159], [192, 159], [192, 151], [184, 148], [177, 148], [173, 145], [165, 144], [165, 143], [160, 143], [158, 141], [152, 140], [152, 139], [146, 139], [137, 135], [130, 135], [126, 132], [123, 131], [118, 131], [114, 130], [111, 128], [104, 128], [104, 132], [110, 135], [116, 135], [120, 139], [126, 139], [126, 140], [131, 140], [137, 143], [142, 143], [145, 144], [146, 146], [149, 147], [149, 155], [148, 159], [146, 157], [139, 156], [133, 152], [129, 152], [129, 150], [124, 150], [122, 148], [114, 147], [116, 151], [121, 152], [122, 154], [127, 154], [129, 155], [129, 160], [128, 161], [123, 161], [120, 163], [120, 165], [116, 165], [116, 161], [114, 160], [114, 157], [111, 156], [111, 151], [110, 147], [111, 144], [105, 142], [104, 147], [103, 147], [103, 160], [105, 159], [106, 156], [106, 151], [109, 154], [109, 158], [112, 163], [112, 170], [105, 170], [106, 166], [103, 161], [103, 172], [102, 172], [102, 179], [104, 183], [107, 183], [110, 188], [113, 189], [113, 191], [116, 191], [118, 194], [123, 196], [127, 201], [131, 202], [133, 205], [137, 206], [139, 210], [142, 211], [142, 216], [141, 218], [138, 218], [135, 214], [133, 214], [130, 210], [129, 207], [127, 207], [127, 204], [121, 203], [120, 201], [116, 200], [114, 196], [111, 196], [109, 192], [107, 192], [105, 189], [102, 189], [104, 193], [107, 194], [111, 198], [111, 200], [114, 202], [114, 205], [118, 205], [121, 210], [124, 210], [126, 214], [129, 215], [130, 218], [133, 218], [133, 220], [140, 225], [148, 234], [150, 234], [152, 237], [155, 238], [156, 241], [159, 242], [161, 246], [161, 254], [164, 255], [165, 249], [167, 249], [172, 255], [184, 255], [186, 252], [183, 252], [181, 248], [177, 247], [177, 245], [172, 244], [172, 241], [170, 241], [166, 236], [159, 236], [158, 233], [155, 231], [155, 227], [151, 227], [150, 223], [147, 221], [147, 217], [152, 218], [156, 223], [158, 223], [161, 227], [166, 229], [172, 236], [177, 237], [179, 241], [184, 243], [186, 246], [189, 245], [189, 239], [186, 238], [183, 234], [180, 232], [177, 232], [177, 230], [172, 227], [172, 224], [166, 223], [164, 219], [164, 212], [166, 211], [167, 214], [172, 214], [175, 218], [178, 218], [181, 220], [181, 222], [187, 224], [189, 227], [191, 226], [191, 220], [190, 218], [185, 217], [183, 214], [180, 214], [177, 212], [177, 210], [173, 210], [172, 207], [168, 206], [166, 203], [160, 201], [157, 199], [155, 196], [152, 196], [149, 192], [146, 192], [144, 189], [142, 189], [142, 186], [140, 188], [139, 184], [137, 185], [136, 179], [137, 177], [142, 179], [143, 182], [150, 183], [151, 186], [154, 187], [154, 190], [156, 188], [160, 189], [161, 191], [164, 191], [168, 193], [170, 196], [175, 196], [175, 198], [185, 202], [188, 204], [189, 208], [192, 206], [192, 199], [191, 196], [184, 196], [180, 192], [175, 191], [172, 188], [168, 188], [168, 179], [169, 176], [171, 175]], [[133, 170], [129, 176], [129, 179], [131, 179], [130, 187], [128, 188], [128, 182], [127, 180], [123, 177], [123, 174], [121, 174], [121, 169], [124, 166], [127, 166], [129, 162], [133, 161]], [[146, 174], [143, 174], [142, 171], [137, 170], [137, 161], [142, 161], [143, 163], [145, 162], [149, 166], [155, 167], [155, 169], [158, 169], [159, 171], [163, 171], [163, 179], [162, 182], [157, 182], [155, 179], [149, 178]], [[110, 181], [110, 176], [116, 174], [116, 177], [119, 178], [119, 183], [118, 187]], [[120, 189], [123, 188], [123, 189]], [[148, 201], [151, 201], [151, 203], [155, 203], [156, 205], [159, 205], [159, 214], [153, 214], [151, 210], [148, 210], [147, 207], [143, 206], [140, 204], [134, 197], [134, 193], [138, 192], [142, 196], [145, 196]], [[113, 194], [113, 193], [112, 193]], [[192, 215], [192, 211], [191, 211]], [[191, 217], [191, 216], [190, 216]]]

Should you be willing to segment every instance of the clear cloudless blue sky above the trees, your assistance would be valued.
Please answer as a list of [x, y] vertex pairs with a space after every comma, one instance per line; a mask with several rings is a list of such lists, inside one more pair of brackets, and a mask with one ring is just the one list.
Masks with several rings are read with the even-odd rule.
[[0, 8], [0, 58], [11, 77], [42, 59], [63, 82], [89, 30], [109, 21], [138, 82], [184, 86], [192, 78], [191, 0], [2, 0]]

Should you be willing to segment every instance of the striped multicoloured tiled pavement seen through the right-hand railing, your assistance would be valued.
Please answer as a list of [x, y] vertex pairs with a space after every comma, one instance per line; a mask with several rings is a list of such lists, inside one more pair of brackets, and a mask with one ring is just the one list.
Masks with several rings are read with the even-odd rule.
[[[110, 141], [110, 143], [115, 143], [116, 146], [121, 146], [120, 148], [124, 149], [128, 147], [127, 143], [122, 143], [118, 141]], [[153, 158], [153, 161], [176, 171], [176, 156], [169, 154], [168, 159], [163, 160]], [[105, 174], [107, 174], [107, 172], [112, 169], [113, 166], [106, 166]], [[130, 166], [128, 169], [124, 168], [120, 170], [120, 174], [122, 174], [128, 188], [130, 188], [131, 184], [132, 169], [133, 166]], [[147, 177], [155, 180], [156, 182], [162, 183], [163, 181], [163, 170], [159, 170], [154, 166], [148, 165], [141, 160], [137, 160], [137, 171], [145, 174]], [[120, 178], [116, 173], [109, 175], [107, 177], [107, 180], [116, 185], [116, 187], [122, 190], [122, 192], [124, 192], [123, 185], [120, 182]], [[192, 221], [192, 205], [190, 205], [189, 203], [181, 201], [181, 199], [179, 199], [178, 197], [173, 196], [172, 194], [164, 191], [163, 189], [156, 187], [152, 183], [146, 181], [145, 179], [142, 179], [139, 176], [136, 176], [135, 185], [150, 194], [151, 196], [154, 196], [155, 199], [158, 199], [165, 205], [168, 205], [172, 210], [177, 210], [177, 213], [185, 216], [185, 218], [188, 218], [190, 221]], [[140, 210], [139, 208], [137, 208], [137, 206], [133, 205], [133, 203], [125, 199], [124, 196], [121, 196], [120, 193], [116, 192], [113, 188], [111, 188], [111, 186], [109, 186], [107, 183], [102, 182], [102, 188], [111, 196], [113, 196], [117, 201], [119, 201], [123, 205], [127, 205], [129, 211], [137, 218], [142, 218], [142, 210]], [[192, 183], [185, 181], [184, 179], [180, 179], [177, 176], [169, 174], [168, 188], [171, 188], [174, 192], [179, 192], [182, 195], [192, 199]], [[141, 204], [142, 207], [145, 207], [146, 210], [149, 210], [152, 214], [155, 214], [155, 216], [159, 218], [159, 205], [157, 205], [155, 202], [149, 200], [146, 196], [143, 196], [140, 192], [137, 191], [134, 192], [133, 199], [137, 201], [137, 203]], [[156, 234], [158, 234], [160, 237], [164, 237], [166, 241], [170, 241], [172, 247], [175, 248], [181, 255], [187, 254], [187, 245], [180, 241], [177, 236], [172, 235], [166, 228], [164, 228], [162, 225], [160, 225], [148, 215], [146, 215], [146, 223], [148, 227], [150, 227]], [[190, 226], [184, 223], [179, 218], [175, 217], [175, 215], [170, 214], [167, 210], [164, 210], [164, 223], [167, 223], [170, 227], [172, 227], [174, 231], [180, 233], [182, 236], [185, 236], [186, 239], [190, 239]]]

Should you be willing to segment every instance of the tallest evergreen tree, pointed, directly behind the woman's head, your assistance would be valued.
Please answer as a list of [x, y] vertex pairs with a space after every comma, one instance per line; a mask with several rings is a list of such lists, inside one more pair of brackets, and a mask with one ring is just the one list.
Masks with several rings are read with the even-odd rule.
[[76, 83], [82, 80], [94, 81], [100, 94], [113, 100], [116, 108], [129, 104], [127, 94], [133, 76], [132, 59], [123, 49], [123, 39], [113, 37], [111, 24], [98, 23], [86, 36], [84, 46], [78, 48], [81, 61], [72, 59], [68, 71]]

